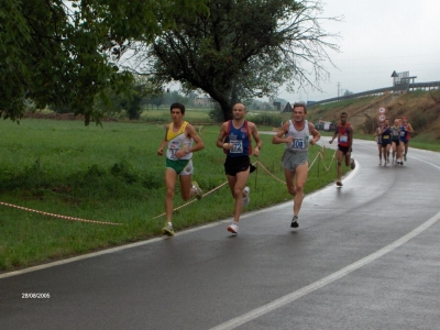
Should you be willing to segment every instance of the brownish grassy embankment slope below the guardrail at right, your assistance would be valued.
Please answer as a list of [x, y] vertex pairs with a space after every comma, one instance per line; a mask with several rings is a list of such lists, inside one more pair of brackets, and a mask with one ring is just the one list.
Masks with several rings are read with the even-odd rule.
[[341, 112], [349, 114], [349, 121], [355, 132], [372, 134], [378, 122], [378, 109], [385, 108], [385, 114], [393, 122], [395, 118], [406, 116], [416, 131], [416, 135], [430, 142], [440, 142], [440, 90], [416, 90], [399, 96], [385, 94], [375, 97], [348, 99], [338, 102], [317, 105], [308, 110], [308, 119], [317, 122], [338, 122]]

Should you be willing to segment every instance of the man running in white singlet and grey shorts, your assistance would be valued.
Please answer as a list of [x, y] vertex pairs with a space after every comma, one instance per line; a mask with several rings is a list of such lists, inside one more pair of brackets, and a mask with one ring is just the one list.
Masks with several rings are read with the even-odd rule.
[[[308, 147], [320, 138], [315, 125], [306, 120], [307, 108], [304, 103], [294, 103], [293, 120], [285, 122], [282, 129], [272, 139], [273, 144], [285, 143], [283, 154], [284, 175], [287, 191], [294, 196], [294, 218], [290, 227], [297, 228], [298, 215], [304, 199], [304, 185], [309, 172]], [[309, 140], [310, 133], [312, 139]]]

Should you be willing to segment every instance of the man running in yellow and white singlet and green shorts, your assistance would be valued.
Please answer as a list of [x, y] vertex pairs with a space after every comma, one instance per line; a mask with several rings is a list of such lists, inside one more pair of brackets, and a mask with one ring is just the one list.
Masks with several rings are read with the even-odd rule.
[[[193, 178], [193, 153], [205, 147], [204, 141], [197, 134], [196, 130], [187, 121], [184, 121], [185, 106], [182, 103], [173, 103], [169, 108], [173, 122], [165, 128], [165, 138], [161, 142], [157, 155], [164, 154], [164, 147], [167, 145], [165, 162], [165, 213], [166, 222], [162, 229], [162, 233], [168, 237], [174, 235], [173, 229], [173, 198], [176, 188], [177, 177], [180, 180], [180, 194], [184, 200], [188, 200], [193, 196], [200, 199], [202, 191]], [[194, 145], [194, 142], [196, 143]]]

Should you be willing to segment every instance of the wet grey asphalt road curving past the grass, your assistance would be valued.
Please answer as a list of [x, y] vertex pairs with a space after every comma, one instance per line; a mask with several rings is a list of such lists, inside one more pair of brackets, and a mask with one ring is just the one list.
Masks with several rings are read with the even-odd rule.
[[245, 215], [239, 237], [227, 219], [0, 274], [0, 329], [440, 329], [440, 153], [380, 167], [356, 141], [354, 155], [298, 230], [288, 202]]

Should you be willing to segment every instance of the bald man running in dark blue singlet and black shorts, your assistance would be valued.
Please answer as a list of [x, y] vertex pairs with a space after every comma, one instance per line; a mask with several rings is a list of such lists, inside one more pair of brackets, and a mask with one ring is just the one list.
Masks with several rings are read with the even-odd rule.
[[[251, 189], [246, 186], [249, 174], [255, 169], [251, 165], [250, 155], [258, 156], [262, 147], [256, 127], [253, 122], [245, 120], [246, 108], [237, 103], [232, 108], [232, 120], [223, 122], [220, 134], [217, 138], [217, 146], [223, 148], [227, 154], [224, 173], [228, 177], [229, 188], [234, 204], [234, 219], [228, 227], [233, 234], [239, 232], [240, 215], [243, 206], [250, 201]], [[255, 141], [255, 148], [252, 148], [252, 139]]]

